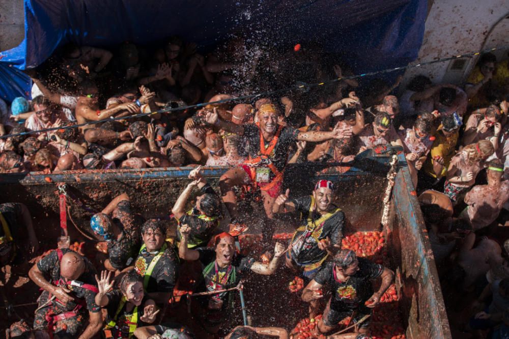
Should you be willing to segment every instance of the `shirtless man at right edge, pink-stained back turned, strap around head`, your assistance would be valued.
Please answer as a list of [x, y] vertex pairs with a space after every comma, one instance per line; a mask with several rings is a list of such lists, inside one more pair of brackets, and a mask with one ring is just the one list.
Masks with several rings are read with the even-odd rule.
[[472, 226], [472, 229], [489, 226], [495, 222], [504, 204], [509, 200], [509, 181], [502, 180], [504, 166], [502, 161], [494, 159], [488, 163], [487, 185], [474, 186], [465, 196], [468, 205], [460, 218]]

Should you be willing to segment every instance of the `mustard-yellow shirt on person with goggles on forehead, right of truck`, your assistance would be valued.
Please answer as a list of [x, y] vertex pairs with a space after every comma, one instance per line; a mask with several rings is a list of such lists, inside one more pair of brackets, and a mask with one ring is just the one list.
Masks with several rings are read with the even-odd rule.
[[[431, 146], [430, 155], [426, 162], [424, 163], [423, 169], [426, 174], [432, 176], [434, 178], [441, 178], [447, 174], [447, 167], [449, 167], [450, 160], [456, 154], [456, 144], [458, 143], [458, 131], [455, 134], [451, 135], [448, 139], [440, 133], [442, 130], [442, 126], [437, 129], [435, 133], [435, 141], [433, 141], [433, 146]], [[444, 167], [442, 168], [442, 173], [437, 177], [435, 171], [433, 170], [433, 158], [442, 157], [444, 160]]]

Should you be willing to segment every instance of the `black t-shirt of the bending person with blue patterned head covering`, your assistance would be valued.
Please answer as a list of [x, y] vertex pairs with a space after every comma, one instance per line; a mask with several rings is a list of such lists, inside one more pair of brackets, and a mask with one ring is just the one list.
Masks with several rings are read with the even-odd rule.
[[111, 266], [122, 270], [129, 266], [138, 255], [141, 246], [139, 225], [131, 213], [131, 203], [128, 200], [119, 202], [113, 213], [113, 219], [122, 224], [120, 240], [108, 241], [108, 255]]

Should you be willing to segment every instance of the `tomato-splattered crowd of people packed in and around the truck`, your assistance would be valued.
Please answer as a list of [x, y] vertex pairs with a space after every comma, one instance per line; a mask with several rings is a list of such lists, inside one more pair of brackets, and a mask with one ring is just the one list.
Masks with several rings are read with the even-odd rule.
[[[164, 223], [137, 222], [129, 196], [116, 197], [90, 221], [104, 240], [103, 267], [69, 249], [38, 261], [29, 272], [43, 290], [35, 320], [33, 326], [13, 325], [13, 337], [87, 338], [100, 331], [112, 338], [192, 337], [191, 324], [168, 325], [164, 310], [179, 274], [193, 269], [194, 292], [204, 292], [189, 305], [194, 325], [211, 335], [223, 333], [232, 330], [226, 321], [234, 293], [229, 289], [246, 272], [273, 274], [281, 269], [279, 261], [306, 279], [302, 300], [309, 303], [310, 317], [324, 313], [317, 335], [334, 332], [353, 311], [358, 321], [371, 314], [394, 273], [342, 249], [348, 216], [335, 205], [333, 182], [318, 181], [304, 197], [291, 197], [281, 188], [288, 164], [337, 166], [387, 145], [399, 146], [395, 149], [406, 157], [444, 292], [448, 285], [460, 286], [462, 294], [476, 298], [473, 309], [463, 307], [451, 325], [474, 336], [507, 335], [509, 243], [497, 233], [505, 224], [504, 208], [509, 209], [507, 61], [482, 55], [461, 86], [415, 76], [399, 97], [392, 91], [401, 78], [394, 84], [348, 79], [233, 102], [229, 99], [296, 80], [315, 83], [352, 73], [319, 46], [263, 50], [234, 37], [205, 56], [196, 47], [178, 37], [153, 49], [125, 43], [115, 53], [66, 45], [30, 73], [31, 101], [16, 98], [10, 107], [0, 101], [0, 136], [9, 135], [0, 139], [2, 173], [197, 166], [172, 208], [179, 224], [174, 243], [165, 241]], [[202, 102], [211, 104], [185, 108]], [[158, 112], [164, 108], [173, 110]], [[149, 112], [155, 113], [130, 117]], [[110, 117], [116, 119], [102, 121]], [[44, 131], [48, 128], [55, 130]], [[229, 169], [212, 188], [202, 166]], [[263, 202], [258, 259], [237, 251], [236, 236], [246, 230], [246, 216], [237, 208], [239, 186], [251, 187]], [[195, 189], [201, 195], [187, 211]], [[220, 220], [227, 218], [222, 205], [229, 232], [219, 231]], [[4, 266], [23, 260], [17, 246], [27, 244], [35, 252], [38, 241], [23, 204], [2, 204], [0, 212]], [[277, 219], [293, 212], [300, 213], [294, 236], [288, 246], [274, 245]], [[375, 292], [377, 279], [382, 283]], [[333, 292], [322, 302], [325, 285]], [[356, 293], [342, 293], [347, 289]], [[445, 295], [447, 303], [458, 298], [458, 292], [452, 295]], [[355, 333], [332, 337], [369, 337], [369, 325], [364, 320]], [[288, 332], [242, 326], [227, 337], [263, 335], [287, 338]]]

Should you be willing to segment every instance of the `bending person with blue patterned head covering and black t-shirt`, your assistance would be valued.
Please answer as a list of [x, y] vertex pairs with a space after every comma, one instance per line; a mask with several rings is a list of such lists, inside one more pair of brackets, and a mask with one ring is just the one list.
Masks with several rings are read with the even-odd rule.
[[127, 194], [119, 195], [100, 213], [94, 214], [90, 227], [107, 243], [109, 258], [104, 262], [106, 269], [122, 270], [133, 263], [141, 244], [139, 225], [134, 220]]

